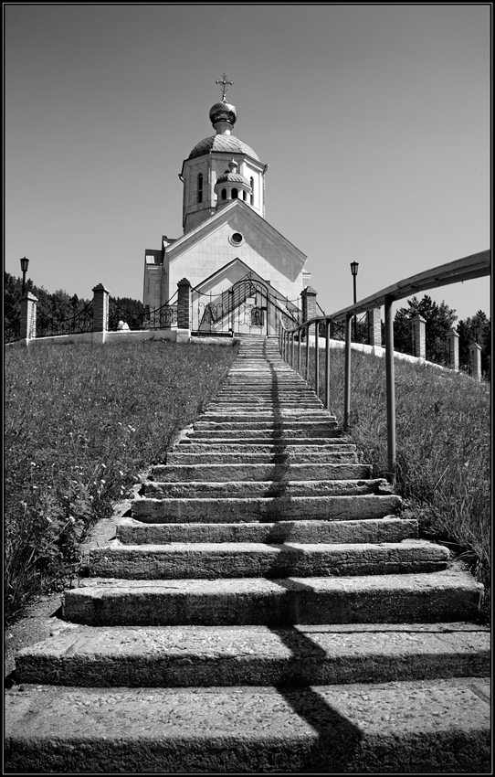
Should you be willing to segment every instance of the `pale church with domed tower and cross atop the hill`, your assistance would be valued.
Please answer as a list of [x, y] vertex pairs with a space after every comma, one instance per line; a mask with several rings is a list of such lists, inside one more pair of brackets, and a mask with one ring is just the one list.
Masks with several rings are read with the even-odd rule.
[[[209, 112], [215, 134], [184, 159], [183, 229], [146, 250], [143, 303], [150, 314], [176, 303], [177, 283], [191, 284], [191, 329], [275, 335], [279, 314], [297, 321], [310, 282], [306, 256], [265, 218], [268, 166], [234, 135], [237, 110], [222, 100]], [[170, 309], [170, 308], [169, 308]]]

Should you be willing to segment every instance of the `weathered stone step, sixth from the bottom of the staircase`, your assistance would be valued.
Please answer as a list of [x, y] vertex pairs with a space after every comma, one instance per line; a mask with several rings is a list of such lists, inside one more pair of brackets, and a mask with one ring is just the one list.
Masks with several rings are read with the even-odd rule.
[[402, 506], [397, 495], [290, 496], [132, 500], [132, 517], [145, 523], [234, 523], [278, 520], [369, 520], [395, 515]]

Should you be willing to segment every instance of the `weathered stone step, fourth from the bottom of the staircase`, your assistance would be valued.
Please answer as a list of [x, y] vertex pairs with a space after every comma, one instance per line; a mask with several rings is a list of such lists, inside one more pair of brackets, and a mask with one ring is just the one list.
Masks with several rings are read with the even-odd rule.
[[343, 577], [436, 572], [448, 564], [448, 549], [432, 542], [348, 544], [261, 542], [121, 545], [90, 551], [90, 575], [125, 580]]

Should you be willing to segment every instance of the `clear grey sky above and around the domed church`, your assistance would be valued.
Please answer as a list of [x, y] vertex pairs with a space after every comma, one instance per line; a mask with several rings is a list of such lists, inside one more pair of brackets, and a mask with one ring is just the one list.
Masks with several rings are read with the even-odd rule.
[[[264, 163], [266, 218], [330, 314], [490, 248], [489, 4], [6, 4], [5, 270], [142, 299], [182, 234], [178, 173], [214, 133]], [[490, 316], [490, 280], [432, 291]], [[422, 294], [420, 294], [422, 296]], [[405, 302], [398, 303], [405, 305]]]

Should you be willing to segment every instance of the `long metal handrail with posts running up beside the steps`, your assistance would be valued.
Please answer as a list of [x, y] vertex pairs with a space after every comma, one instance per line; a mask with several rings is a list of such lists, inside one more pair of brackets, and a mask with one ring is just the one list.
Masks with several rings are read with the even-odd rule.
[[[299, 355], [298, 368], [300, 369], [300, 343], [303, 334], [306, 339], [306, 364], [305, 378], [308, 379], [310, 369], [310, 329], [314, 326], [315, 334], [315, 391], [319, 394], [319, 358], [320, 348], [318, 335], [321, 322], [326, 326], [325, 347], [325, 407], [330, 410], [330, 326], [338, 320], [345, 320], [345, 363], [344, 363], [344, 388], [343, 388], [343, 431], [349, 427], [351, 413], [351, 320], [353, 315], [365, 313], [384, 305], [385, 316], [385, 391], [387, 414], [387, 449], [388, 449], [388, 478], [395, 480], [395, 370], [394, 370], [394, 318], [392, 304], [396, 300], [404, 299], [412, 294], [435, 289], [439, 286], [448, 286], [451, 283], [468, 281], [473, 278], [482, 278], [491, 272], [491, 250], [480, 251], [476, 254], [442, 264], [432, 270], [412, 275], [392, 286], [387, 286], [371, 297], [358, 303], [342, 308], [332, 315], [319, 316], [305, 321], [293, 329], [286, 329], [280, 316], [279, 349], [282, 357], [294, 366], [294, 337], [298, 335]], [[291, 347], [290, 347], [291, 346]]]

